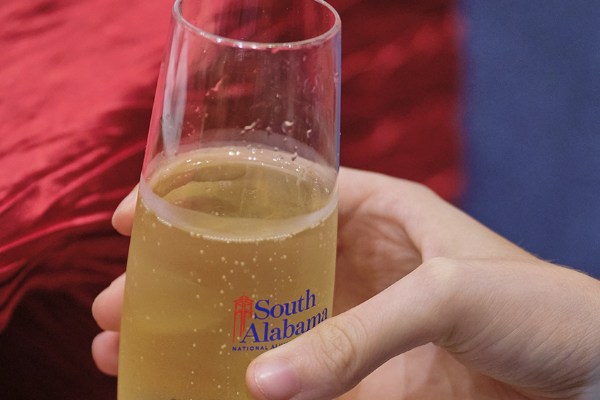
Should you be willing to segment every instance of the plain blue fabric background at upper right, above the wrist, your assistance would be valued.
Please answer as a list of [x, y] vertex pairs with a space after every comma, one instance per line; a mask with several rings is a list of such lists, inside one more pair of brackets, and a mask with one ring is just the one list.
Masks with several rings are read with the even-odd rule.
[[600, 1], [463, 0], [464, 209], [600, 277]]

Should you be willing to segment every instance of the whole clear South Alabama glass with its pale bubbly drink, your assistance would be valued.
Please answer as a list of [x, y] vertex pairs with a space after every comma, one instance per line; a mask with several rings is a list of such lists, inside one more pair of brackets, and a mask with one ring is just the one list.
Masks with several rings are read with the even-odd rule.
[[251, 399], [248, 363], [331, 315], [340, 17], [177, 0], [127, 263], [119, 400]]

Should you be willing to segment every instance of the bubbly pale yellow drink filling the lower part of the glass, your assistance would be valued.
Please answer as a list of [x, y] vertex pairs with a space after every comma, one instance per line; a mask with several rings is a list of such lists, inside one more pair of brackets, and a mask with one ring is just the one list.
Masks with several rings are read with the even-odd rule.
[[[142, 184], [121, 320], [119, 400], [252, 399], [248, 363], [331, 316], [335, 174], [293, 158], [202, 150], [162, 166], [152, 190]], [[253, 313], [240, 336], [234, 301], [243, 295]], [[257, 305], [283, 315], [256, 319], [266, 316]]]

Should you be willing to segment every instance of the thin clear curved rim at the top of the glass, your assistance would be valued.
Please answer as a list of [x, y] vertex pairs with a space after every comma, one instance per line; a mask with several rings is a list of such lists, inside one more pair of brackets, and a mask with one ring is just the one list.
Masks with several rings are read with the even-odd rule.
[[244, 49], [244, 48], [248, 48], [248, 47], [251, 49], [275, 49], [275, 48], [292, 49], [292, 48], [302, 47], [302, 46], [306, 46], [306, 45], [314, 46], [314, 45], [321, 44], [323, 42], [327, 42], [330, 39], [330, 37], [334, 37], [335, 35], [337, 35], [337, 32], [340, 32], [340, 26], [342, 25], [342, 19], [340, 18], [340, 14], [338, 14], [337, 11], [335, 11], [335, 8], [333, 8], [329, 3], [327, 3], [326, 1], [323, 1], [323, 0], [308, 0], [308, 1], [314, 1], [315, 3], [325, 6], [325, 8], [328, 8], [328, 10], [333, 13], [335, 22], [333, 23], [333, 26], [329, 30], [327, 30], [327, 32], [324, 32], [315, 37], [311, 37], [310, 39], [298, 40], [296, 42], [264, 43], [264, 42], [250, 42], [250, 41], [246, 41], [246, 40], [236, 40], [236, 39], [230, 39], [229, 37], [224, 37], [224, 36], [220, 36], [220, 35], [215, 35], [214, 33], [206, 32], [205, 30], [201, 30], [196, 25], [193, 25], [192, 23], [190, 23], [188, 20], [186, 20], [186, 18], [184, 18], [183, 15], [181, 15], [181, 2], [182, 1], [183, 0], [175, 0], [175, 3], [173, 4], [173, 8], [172, 8], [172, 13], [173, 13], [173, 17], [175, 18], [175, 20], [178, 23], [180, 23], [181, 25], [183, 25], [184, 28], [186, 28], [187, 30], [190, 30], [191, 32], [196, 33], [196, 35], [203, 36], [203, 37], [207, 38], [208, 40], [213, 40], [214, 42], [216, 42], [218, 44], [229, 45], [231, 47], [239, 47], [240, 49]]

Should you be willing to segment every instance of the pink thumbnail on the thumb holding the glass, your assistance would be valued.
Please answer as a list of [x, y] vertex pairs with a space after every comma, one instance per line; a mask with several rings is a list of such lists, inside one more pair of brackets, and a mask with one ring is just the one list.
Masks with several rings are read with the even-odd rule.
[[269, 400], [288, 400], [300, 392], [296, 368], [284, 358], [271, 358], [256, 365], [256, 384]]

